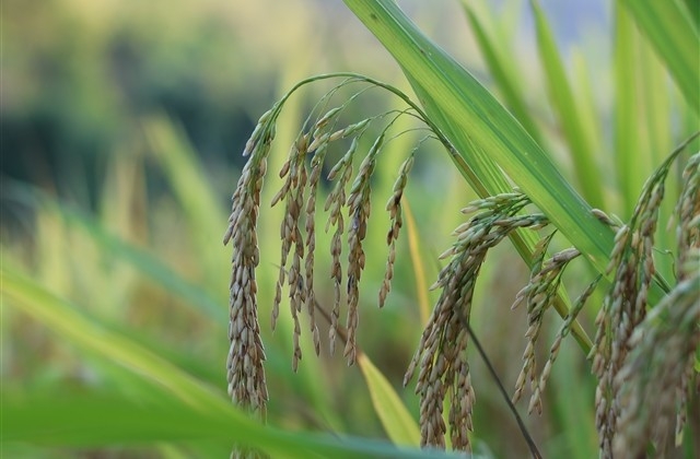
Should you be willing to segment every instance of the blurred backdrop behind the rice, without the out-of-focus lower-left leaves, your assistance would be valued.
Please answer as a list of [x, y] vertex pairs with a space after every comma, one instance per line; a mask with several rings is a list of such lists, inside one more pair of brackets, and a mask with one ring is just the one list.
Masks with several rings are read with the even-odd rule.
[[[490, 3], [477, 8], [500, 24], [499, 36], [509, 40], [527, 102], [547, 127], [552, 116], [540, 83], [527, 8], [513, 1]], [[400, 4], [431, 38], [490, 84], [457, 1]], [[579, 56], [587, 69], [595, 69], [587, 71], [588, 102], [600, 120], [609, 118], [609, 5], [555, 0], [542, 4], [564, 61], [570, 64]], [[341, 1], [5, 0], [1, 27], [3, 266], [68, 299], [93, 323], [148, 345], [225, 391], [231, 249], [221, 245], [221, 237], [244, 164], [241, 152], [257, 118], [296, 81], [315, 73], [354, 71], [410, 94], [399, 69]], [[273, 163], [281, 164], [308, 110], [330, 87], [318, 83], [290, 99], [278, 126]], [[372, 91], [354, 104], [349, 119], [394, 108], [402, 108], [396, 98]], [[551, 131], [549, 148], [557, 153], [563, 148]], [[384, 310], [377, 310], [388, 228], [384, 203], [398, 165], [422, 136], [409, 132], [393, 141], [377, 169], [359, 337], [361, 349], [415, 417], [413, 382], [404, 389], [401, 380], [425, 320], [416, 285], [432, 284], [439, 270], [436, 255], [451, 244], [450, 233], [462, 223], [458, 210], [475, 198], [436, 143], [421, 145], [407, 198], [425, 278], [416, 279], [407, 237], [401, 237], [393, 292]], [[609, 139], [609, 132], [603, 136]], [[562, 168], [571, 168], [564, 156]], [[275, 175], [264, 191], [258, 274], [270, 423], [294, 431], [385, 438], [361, 374], [346, 367], [341, 352], [328, 355], [324, 339], [316, 358], [305, 341], [304, 358], [293, 374], [292, 323], [285, 305], [276, 332], [270, 329], [279, 262], [280, 210], [267, 208], [279, 187]], [[326, 247], [328, 240], [322, 237], [318, 246]], [[327, 272], [329, 257], [319, 249], [316, 258], [317, 272]], [[332, 291], [323, 276], [318, 279], [322, 303], [329, 302]], [[525, 343], [524, 311], [511, 313], [509, 307], [526, 279], [517, 256], [499, 247], [488, 260], [475, 303], [475, 329], [506, 388], [517, 377]], [[573, 282], [575, 289], [581, 285]], [[430, 295], [434, 302], [436, 293]], [[7, 390], [100, 389], [138, 397], [138, 388], [115, 377], [109, 363], [77, 348], [22, 308], [7, 306], [3, 302], [0, 368]], [[551, 321], [550, 334], [560, 323]], [[327, 326], [322, 336], [327, 336]], [[575, 386], [583, 388], [581, 393], [552, 390], [545, 413], [527, 420], [552, 457], [596, 446], [592, 424], [572, 427], [576, 415], [592, 416], [592, 380], [583, 355], [568, 343], [561, 361], [551, 386]], [[526, 454], [482, 362], [476, 354], [472, 362], [477, 449], [497, 457]], [[561, 400], [553, 400], [558, 397], [571, 407], [560, 410]], [[168, 448], [27, 448], [23, 454], [33, 457], [174, 455]]]

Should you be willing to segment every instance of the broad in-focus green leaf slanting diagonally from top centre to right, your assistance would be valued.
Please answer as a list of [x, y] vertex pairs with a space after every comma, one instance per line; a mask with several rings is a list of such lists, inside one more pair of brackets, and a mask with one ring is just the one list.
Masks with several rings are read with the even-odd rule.
[[[425, 104], [424, 94], [431, 95], [433, 104], [427, 111], [445, 136], [457, 145], [455, 133], [460, 132], [478, 146], [458, 152], [472, 173], [481, 166], [488, 169], [489, 163], [495, 162], [609, 280], [606, 268], [612, 231], [593, 216], [591, 207], [511, 114], [469, 72], [428, 39], [395, 2], [346, 0], [346, 3], [400, 63], [421, 103]], [[439, 111], [442, 120], [436, 118]], [[479, 173], [477, 176], [490, 191], [498, 189], [493, 176]], [[661, 289], [654, 285], [652, 301], [661, 296]]]

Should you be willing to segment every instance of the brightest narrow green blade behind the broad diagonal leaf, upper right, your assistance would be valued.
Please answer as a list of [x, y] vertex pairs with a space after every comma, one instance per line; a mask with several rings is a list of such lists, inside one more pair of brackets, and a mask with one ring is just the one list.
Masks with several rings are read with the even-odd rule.
[[569, 144], [579, 186], [591, 205], [605, 208], [600, 185], [597, 180], [591, 179], [597, 175], [591, 146], [593, 142], [583, 130], [580, 108], [571, 91], [564, 64], [557, 50], [555, 36], [539, 3], [536, 0], [530, 0], [530, 7], [535, 15], [537, 45], [547, 76], [549, 98]]

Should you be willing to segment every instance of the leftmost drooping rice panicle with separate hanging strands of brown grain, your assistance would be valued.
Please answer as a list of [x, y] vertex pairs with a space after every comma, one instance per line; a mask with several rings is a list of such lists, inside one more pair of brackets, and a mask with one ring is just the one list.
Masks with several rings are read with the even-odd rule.
[[[338, 87], [350, 82], [357, 81], [346, 80], [328, 94], [331, 95]], [[224, 244], [231, 240], [234, 248], [230, 301], [229, 391], [234, 402], [262, 414], [267, 401], [267, 389], [262, 369], [265, 354], [259, 340], [256, 303], [255, 268], [259, 262], [256, 224], [260, 204], [260, 187], [266, 174], [270, 142], [275, 137], [277, 118], [290, 94], [285, 95], [260, 118], [246, 144], [244, 155], [249, 155], [249, 160], [233, 193], [232, 214], [224, 236]], [[329, 98], [328, 95], [324, 97], [326, 105]], [[284, 293], [287, 293], [294, 325], [292, 355], [294, 370], [296, 370], [303, 355], [300, 344], [303, 309], [307, 311], [310, 332], [316, 354], [320, 350], [320, 336], [315, 314], [317, 301], [314, 289], [314, 264], [317, 254], [316, 199], [323, 181], [326, 153], [331, 144], [346, 143], [345, 139], [348, 139], [349, 148], [330, 168], [326, 177], [330, 191], [325, 202], [325, 211], [328, 214], [325, 229], [326, 232], [331, 227], [335, 229], [329, 247], [332, 260], [330, 280], [334, 287], [334, 304], [329, 314], [331, 321], [329, 342], [332, 353], [340, 327], [340, 306], [345, 291], [348, 304], [345, 356], [349, 365], [352, 365], [357, 358], [359, 285], [365, 266], [363, 240], [371, 213], [371, 179], [376, 156], [384, 146], [385, 132], [392, 122], [388, 122], [375, 138], [364, 153], [357, 174], [353, 174], [353, 165], [357, 163], [355, 152], [362, 143], [362, 137], [374, 119], [382, 118], [387, 114], [340, 128], [338, 127], [339, 118], [346, 106], [347, 103], [334, 107], [318, 116], [313, 123], [308, 121], [305, 123], [291, 145], [289, 156], [279, 173], [283, 183], [271, 202], [272, 205], [278, 203], [284, 205], [284, 217], [280, 225], [282, 245], [272, 304], [272, 328], [279, 317], [279, 308]], [[394, 114], [394, 116], [401, 114]], [[412, 152], [410, 158], [404, 163], [399, 170], [394, 195], [387, 205], [392, 219], [392, 228], [387, 238], [389, 259], [385, 281], [380, 293], [380, 305], [384, 304], [393, 278], [395, 240], [401, 226], [400, 201], [411, 164]], [[348, 247], [347, 274], [345, 276], [341, 263], [343, 236], [347, 237], [345, 244]]]

